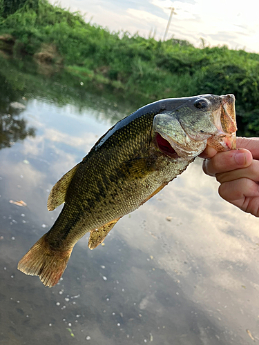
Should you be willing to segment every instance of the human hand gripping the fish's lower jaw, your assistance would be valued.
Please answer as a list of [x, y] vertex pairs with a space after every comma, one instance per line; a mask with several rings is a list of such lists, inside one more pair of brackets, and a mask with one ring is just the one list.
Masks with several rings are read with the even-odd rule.
[[207, 146], [203, 170], [220, 182], [218, 193], [231, 204], [259, 217], [259, 138], [237, 137], [238, 150], [217, 152]]

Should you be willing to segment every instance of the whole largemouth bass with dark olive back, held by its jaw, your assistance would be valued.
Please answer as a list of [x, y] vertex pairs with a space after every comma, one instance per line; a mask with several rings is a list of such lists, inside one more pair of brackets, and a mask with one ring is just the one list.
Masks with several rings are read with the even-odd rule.
[[52, 187], [48, 210], [64, 207], [18, 269], [55, 286], [81, 237], [90, 233], [90, 249], [102, 244], [120, 218], [160, 192], [207, 145], [235, 149], [236, 130], [233, 95], [161, 99], [124, 117]]

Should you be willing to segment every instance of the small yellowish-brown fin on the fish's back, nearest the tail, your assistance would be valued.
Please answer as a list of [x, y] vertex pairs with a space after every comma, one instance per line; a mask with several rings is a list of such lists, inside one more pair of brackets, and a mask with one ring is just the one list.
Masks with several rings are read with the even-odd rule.
[[52, 187], [52, 190], [50, 190], [50, 195], [48, 195], [48, 210], [52, 211], [55, 210], [55, 208], [65, 202], [66, 198], [66, 190], [68, 189], [68, 186], [70, 185], [71, 180], [73, 179], [75, 172], [77, 171], [77, 168], [80, 163], [78, 163], [74, 168], [66, 172], [64, 176], [57, 181], [57, 184]]

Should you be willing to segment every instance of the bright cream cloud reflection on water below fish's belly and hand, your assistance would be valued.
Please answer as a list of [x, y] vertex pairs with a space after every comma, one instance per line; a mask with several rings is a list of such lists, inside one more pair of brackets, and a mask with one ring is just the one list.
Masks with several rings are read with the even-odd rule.
[[[131, 219], [123, 217], [114, 231], [131, 248], [146, 257], [152, 254], [152, 267], [177, 279], [181, 292], [204, 310], [214, 313], [218, 304], [231, 306], [223, 314], [229, 313], [232, 322], [233, 311], [242, 308], [244, 287], [249, 299], [257, 300], [258, 224], [255, 217], [220, 199], [218, 182], [204, 175], [201, 163], [191, 164]], [[169, 215], [171, 221], [166, 220]], [[244, 308], [248, 312], [250, 307]]]

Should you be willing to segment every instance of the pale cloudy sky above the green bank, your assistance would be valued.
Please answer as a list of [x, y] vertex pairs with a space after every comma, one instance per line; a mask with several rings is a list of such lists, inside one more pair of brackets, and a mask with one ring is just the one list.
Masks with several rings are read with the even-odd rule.
[[62, 7], [81, 11], [86, 21], [109, 30], [138, 32], [163, 39], [174, 8], [167, 39], [186, 39], [201, 46], [227, 45], [259, 52], [259, 3], [254, 0], [61, 0]]

